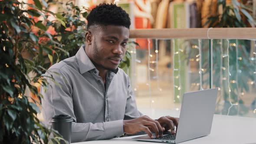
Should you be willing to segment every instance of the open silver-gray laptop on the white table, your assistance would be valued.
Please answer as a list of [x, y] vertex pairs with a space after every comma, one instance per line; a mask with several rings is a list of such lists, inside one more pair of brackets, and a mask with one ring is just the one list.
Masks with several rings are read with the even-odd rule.
[[[138, 141], [177, 144], [210, 134], [218, 88], [184, 93], [176, 134], [163, 134], [151, 139], [148, 135], [134, 137]], [[153, 134], [154, 135], [154, 134]]]

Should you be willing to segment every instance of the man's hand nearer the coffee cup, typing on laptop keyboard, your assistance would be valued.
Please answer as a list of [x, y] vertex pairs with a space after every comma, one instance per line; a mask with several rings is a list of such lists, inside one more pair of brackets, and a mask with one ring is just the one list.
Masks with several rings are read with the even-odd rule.
[[124, 120], [124, 132], [126, 134], [135, 134], [140, 131], [144, 131], [149, 137], [154, 138], [151, 131], [155, 133], [156, 137], [162, 137], [164, 128], [161, 127], [158, 121], [146, 115], [131, 120]]

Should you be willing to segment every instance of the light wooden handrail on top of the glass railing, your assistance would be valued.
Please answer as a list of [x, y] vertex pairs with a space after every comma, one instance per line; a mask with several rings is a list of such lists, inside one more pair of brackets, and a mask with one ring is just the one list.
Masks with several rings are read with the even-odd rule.
[[130, 38], [256, 39], [256, 28], [131, 29]]

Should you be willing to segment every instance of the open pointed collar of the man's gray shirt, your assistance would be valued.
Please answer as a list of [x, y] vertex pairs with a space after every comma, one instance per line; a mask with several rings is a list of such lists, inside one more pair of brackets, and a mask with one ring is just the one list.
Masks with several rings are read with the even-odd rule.
[[[85, 45], [81, 46], [81, 48], [75, 54], [75, 57], [77, 59], [81, 74], [88, 72], [92, 69], [96, 69], [95, 65], [92, 63], [91, 59], [87, 56], [85, 52]], [[112, 70], [112, 72], [116, 74], [118, 72], [118, 68], [115, 70]]]

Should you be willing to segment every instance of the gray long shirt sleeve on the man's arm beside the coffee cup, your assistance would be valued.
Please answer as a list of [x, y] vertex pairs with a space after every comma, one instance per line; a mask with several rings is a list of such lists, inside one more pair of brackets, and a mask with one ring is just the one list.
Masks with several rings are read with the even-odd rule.
[[[53, 76], [55, 82], [49, 77]], [[73, 111], [72, 83], [59, 69], [50, 69], [44, 75], [49, 84], [41, 87], [43, 123], [49, 128], [54, 115], [70, 115], [73, 118], [71, 142], [111, 139], [121, 136], [123, 120], [102, 123], [77, 123]]]

